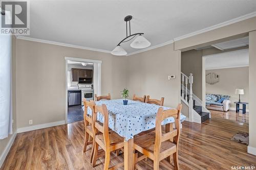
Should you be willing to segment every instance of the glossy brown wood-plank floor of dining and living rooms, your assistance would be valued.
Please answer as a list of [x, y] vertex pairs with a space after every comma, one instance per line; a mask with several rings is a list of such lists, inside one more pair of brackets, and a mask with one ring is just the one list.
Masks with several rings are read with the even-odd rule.
[[[183, 123], [179, 142], [180, 169], [255, 165], [256, 156], [247, 153], [247, 145], [230, 140], [239, 131], [248, 132], [248, 115], [245, 115], [245, 123], [241, 123], [240, 118], [235, 121], [237, 115], [232, 112], [211, 113], [212, 118], [201, 125]], [[226, 119], [227, 114], [230, 119]], [[82, 152], [83, 126], [83, 122], [76, 122], [17, 134], [1, 169], [103, 169], [104, 157], [92, 168], [91, 147], [86, 153]], [[122, 154], [118, 157], [111, 154], [110, 166], [122, 161], [122, 157]], [[150, 159], [140, 164], [145, 169], [153, 169]]]

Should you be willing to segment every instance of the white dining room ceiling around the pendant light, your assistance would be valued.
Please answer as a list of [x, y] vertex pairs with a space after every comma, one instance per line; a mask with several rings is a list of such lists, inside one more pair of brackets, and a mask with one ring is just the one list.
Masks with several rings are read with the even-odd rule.
[[[256, 1], [30, 1], [30, 36], [112, 51], [131, 33], [143, 32], [155, 46], [173, 38], [256, 11]], [[123, 43], [127, 53], [140, 49]]]

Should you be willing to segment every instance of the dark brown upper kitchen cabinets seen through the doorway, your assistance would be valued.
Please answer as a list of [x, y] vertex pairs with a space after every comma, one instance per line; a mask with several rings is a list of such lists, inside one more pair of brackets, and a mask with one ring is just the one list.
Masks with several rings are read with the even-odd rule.
[[92, 69], [72, 68], [72, 82], [78, 82], [79, 78], [93, 78]]

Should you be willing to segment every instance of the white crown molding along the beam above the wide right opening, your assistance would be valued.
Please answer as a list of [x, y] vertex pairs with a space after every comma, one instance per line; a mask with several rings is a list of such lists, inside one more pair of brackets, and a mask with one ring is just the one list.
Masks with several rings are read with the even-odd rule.
[[198, 30], [198, 31], [195, 31], [195, 32], [192, 32], [192, 33], [189, 33], [189, 34], [182, 35], [180, 37], [174, 38], [174, 41], [182, 40], [182, 39], [192, 37], [192, 36], [195, 36], [195, 35], [198, 35], [198, 34], [202, 34], [202, 33], [208, 32], [208, 31], [212, 31], [212, 30], [215, 30], [215, 29], [218, 29], [218, 28], [221, 28], [221, 27], [225, 27], [225, 26], [231, 25], [232, 23], [243, 21], [243, 20], [255, 17], [255, 16], [256, 16], [256, 11], [254, 11], [252, 13], [249, 13], [249, 14], [246, 14], [246, 15], [243, 15], [243, 16], [240, 16], [240, 17], [237, 17], [237, 18], [234, 18], [234, 19], [230, 19], [230, 20], [222, 22], [222, 23], [218, 23], [217, 25], [207, 27], [207, 28], [202, 29], [202, 30]]

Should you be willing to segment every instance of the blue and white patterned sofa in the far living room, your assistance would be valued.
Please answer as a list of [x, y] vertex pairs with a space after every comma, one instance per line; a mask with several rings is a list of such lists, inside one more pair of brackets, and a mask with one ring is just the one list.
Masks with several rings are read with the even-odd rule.
[[230, 96], [223, 94], [206, 94], [205, 105], [207, 109], [228, 111], [230, 105]]

